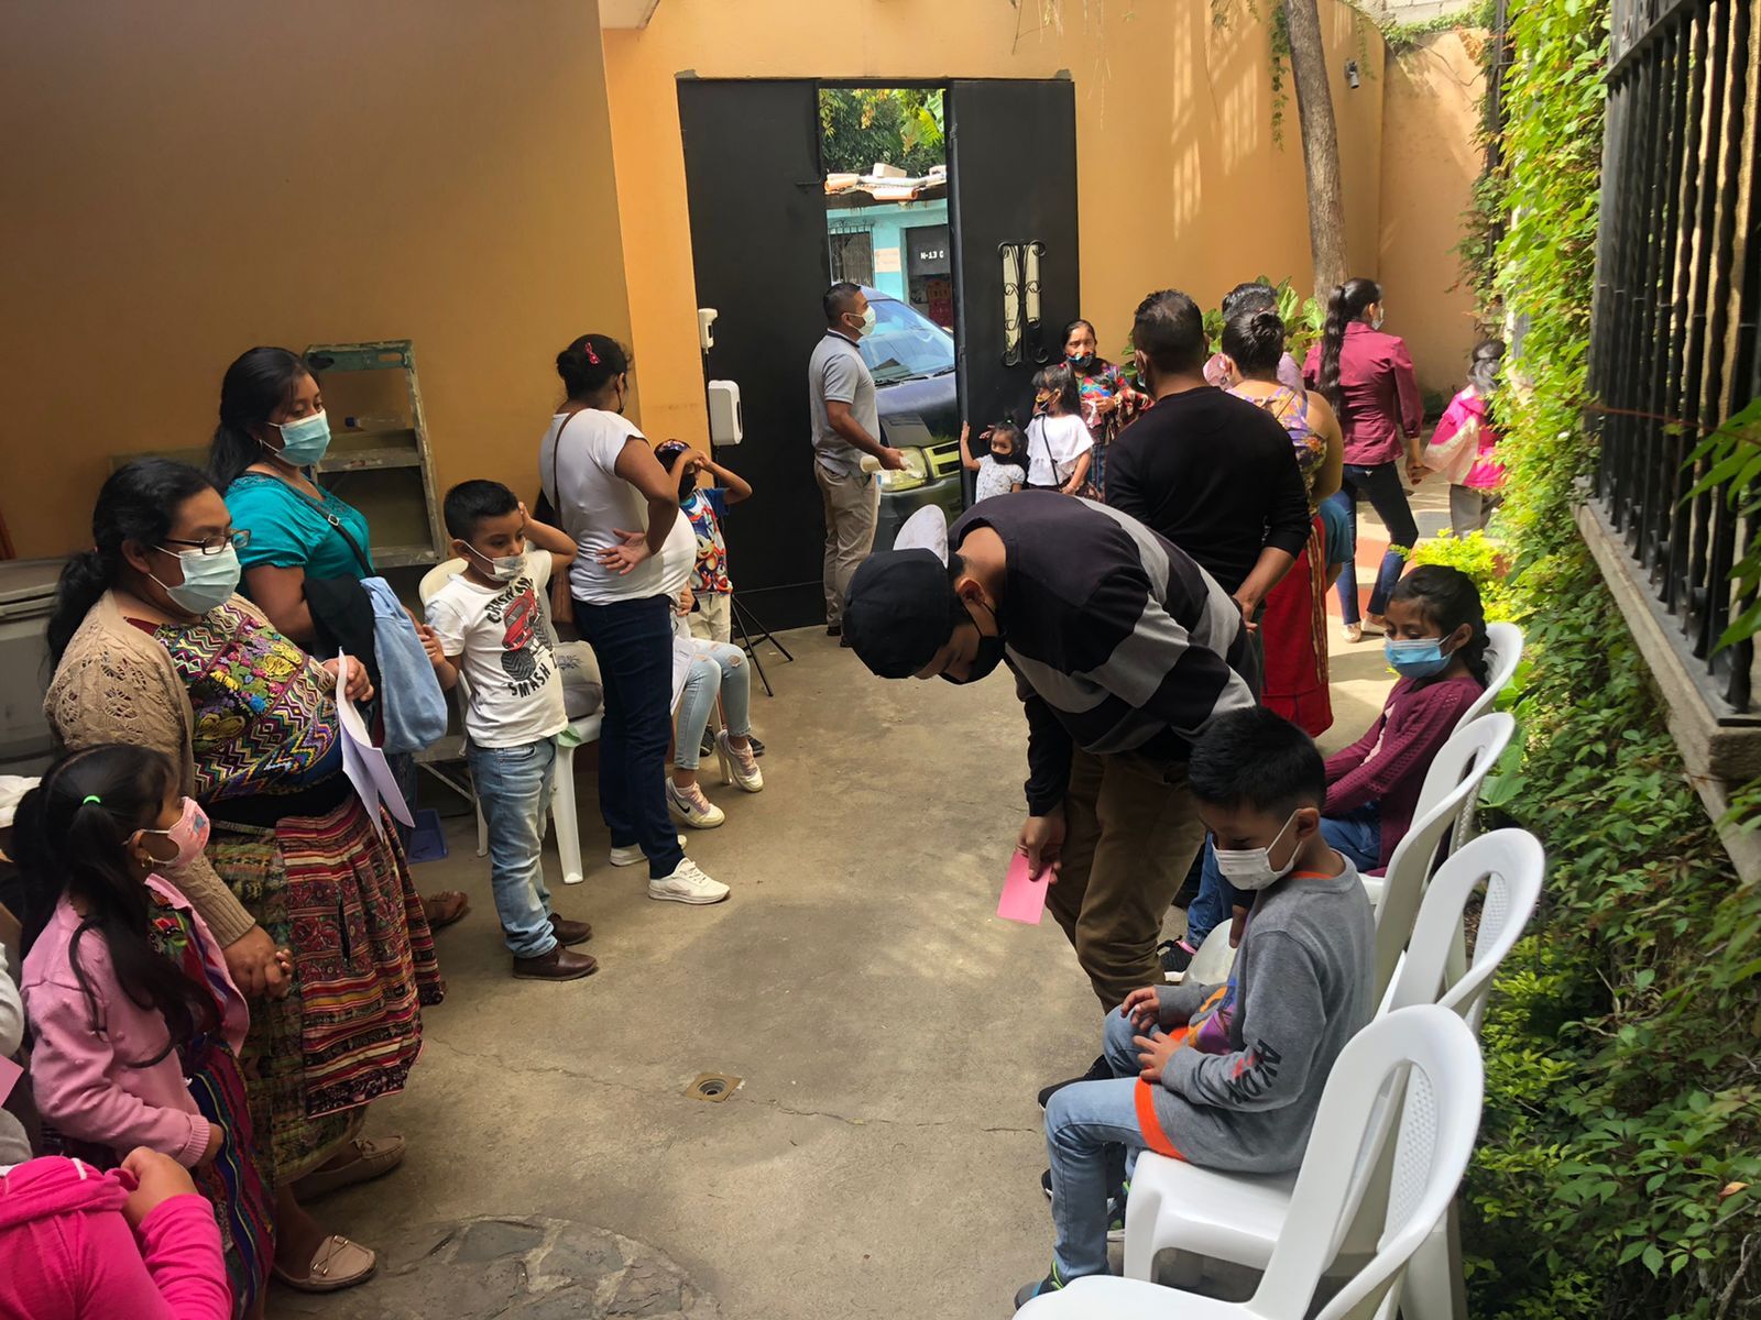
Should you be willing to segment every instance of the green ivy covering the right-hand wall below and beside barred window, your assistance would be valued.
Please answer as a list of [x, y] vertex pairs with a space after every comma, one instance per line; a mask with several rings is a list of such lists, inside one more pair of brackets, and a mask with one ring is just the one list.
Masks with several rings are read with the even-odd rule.
[[[1761, 891], [1735, 876], [1573, 521], [1603, 141], [1606, 0], [1516, 0], [1502, 169], [1463, 250], [1520, 327], [1507, 502], [1476, 572], [1522, 623], [1525, 746], [1486, 801], [1548, 848], [1544, 908], [1485, 1030], [1463, 1243], [1476, 1320], [1761, 1316]], [[1490, 48], [1488, 48], [1490, 49]], [[1490, 220], [1506, 225], [1490, 262]], [[1477, 248], [1476, 248], [1477, 241]], [[1497, 570], [1509, 567], [1507, 577]]]

